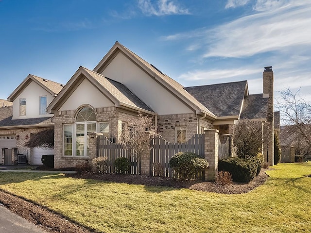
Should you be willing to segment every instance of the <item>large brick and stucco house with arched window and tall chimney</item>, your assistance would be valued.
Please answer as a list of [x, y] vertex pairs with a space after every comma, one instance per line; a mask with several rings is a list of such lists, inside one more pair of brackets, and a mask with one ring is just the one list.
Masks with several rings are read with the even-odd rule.
[[[273, 71], [265, 67], [263, 94], [249, 95], [247, 81], [184, 88], [116, 42], [94, 70], [79, 67], [47, 111], [54, 114], [55, 167], [88, 158], [88, 133], [119, 142], [138, 112], [154, 117], [157, 132], [169, 142], [211, 128], [230, 134], [244, 118], [266, 122], [264, 130], [273, 132]], [[272, 165], [273, 133], [263, 153]]]

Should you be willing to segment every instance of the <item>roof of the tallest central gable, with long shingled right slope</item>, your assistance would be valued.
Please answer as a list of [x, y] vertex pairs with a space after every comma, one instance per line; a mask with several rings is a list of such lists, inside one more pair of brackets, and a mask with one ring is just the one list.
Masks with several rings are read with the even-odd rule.
[[94, 68], [93, 71], [97, 73], [103, 72], [104, 68], [108, 66], [110, 61], [119, 53], [124, 53], [128, 58], [130, 58], [138, 67], [143, 69], [146, 73], [148, 73], [152, 78], [155, 79], [158, 83], [167, 88], [173, 95], [177, 96], [179, 99], [184, 101], [186, 104], [191, 106], [196, 110], [197, 113], [205, 113], [211, 119], [216, 119], [217, 117], [214, 115], [212, 111], [210, 111], [206, 106], [196, 100], [193, 96], [191, 96], [187, 91], [184, 90], [183, 86], [177, 83], [175, 80], [162, 73], [152, 64], [149, 64], [137, 54], [127, 49], [123, 45], [121, 45], [118, 41], [115, 45], [107, 52], [104, 58], [100, 61], [100, 63]]

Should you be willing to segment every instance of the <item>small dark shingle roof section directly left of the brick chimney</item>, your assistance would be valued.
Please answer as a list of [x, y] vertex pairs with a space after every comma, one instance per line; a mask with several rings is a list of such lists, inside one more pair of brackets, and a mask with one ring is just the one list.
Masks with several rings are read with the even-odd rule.
[[262, 98], [262, 94], [249, 95], [245, 97], [241, 119], [266, 119], [268, 99]]

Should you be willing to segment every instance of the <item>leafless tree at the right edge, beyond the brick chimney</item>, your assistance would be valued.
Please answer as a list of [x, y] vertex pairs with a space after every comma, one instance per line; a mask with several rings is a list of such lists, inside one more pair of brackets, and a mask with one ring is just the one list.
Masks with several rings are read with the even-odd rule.
[[289, 88], [280, 91], [276, 108], [280, 111], [283, 124], [291, 126], [294, 135], [292, 145], [299, 149], [296, 153], [303, 155], [309, 153], [311, 148], [311, 103], [299, 92], [300, 88], [296, 92]]

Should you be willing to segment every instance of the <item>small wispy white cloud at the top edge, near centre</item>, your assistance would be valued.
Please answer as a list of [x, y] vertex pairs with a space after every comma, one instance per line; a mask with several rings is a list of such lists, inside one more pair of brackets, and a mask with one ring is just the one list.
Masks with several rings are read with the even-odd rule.
[[164, 15], [189, 15], [186, 8], [182, 8], [175, 3], [175, 0], [138, 0], [138, 7], [143, 14], [147, 16], [164, 16]]

